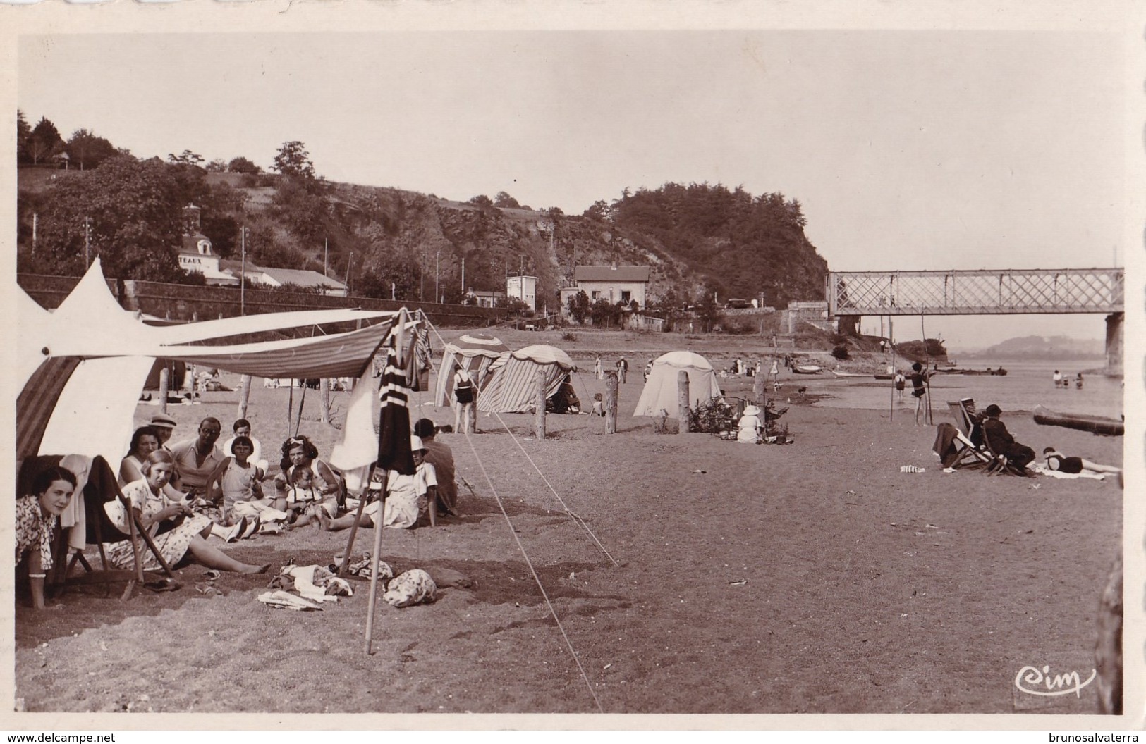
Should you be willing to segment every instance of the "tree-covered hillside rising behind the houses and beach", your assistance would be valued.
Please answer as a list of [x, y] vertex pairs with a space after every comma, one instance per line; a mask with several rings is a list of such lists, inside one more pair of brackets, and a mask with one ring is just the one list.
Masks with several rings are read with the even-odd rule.
[[[504, 287], [507, 270], [537, 277], [539, 309], [557, 309], [575, 266], [649, 266], [651, 304], [730, 296], [823, 295], [826, 262], [803, 234], [799, 201], [741, 188], [628, 189], [582, 215], [532, 208], [501, 191], [464, 201], [327, 181], [306, 145], [278, 147], [272, 173], [253, 158], [183, 150], [141, 159], [87, 129], [64, 138], [17, 112], [18, 270], [77, 276], [100, 255], [109, 276], [197, 283], [178, 266], [182, 211], [202, 207], [223, 258], [325, 271], [354, 294], [462, 300]], [[33, 221], [36, 240], [33, 245]], [[464, 263], [464, 269], [463, 269]], [[464, 270], [464, 282], [463, 282]]]

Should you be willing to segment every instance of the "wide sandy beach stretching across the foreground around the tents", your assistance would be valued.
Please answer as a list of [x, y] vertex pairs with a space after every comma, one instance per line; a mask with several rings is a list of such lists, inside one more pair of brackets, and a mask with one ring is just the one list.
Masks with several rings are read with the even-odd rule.
[[[597, 353], [609, 363], [626, 353], [634, 369], [615, 434], [602, 418], [550, 415], [549, 436], [537, 441], [532, 414], [481, 414], [477, 435], [440, 436], [474, 493], [461, 489], [461, 516], [435, 528], [385, 530], [382, 555], [398, 571], [460, 573], [468, 587], [406, 609], [379, 602], [369, 656], [364, 581], [317, 612], [256, 601], [269, 576], [209, 581], [191, 563], [178, 568], [175, 592], [121, 601], [121, 585], [110, 594], [78, 586], [40, 614], [17, 599], [17, 698], [28, 711], [56, 712], [1096, 711], [1093, 683], [1052, 697], [1015, 681], [1025, 666], [1082, 680], [1094, 667], [1099, 593], [1121, 549], [1115, 481], [943, 473], [931, 451], [935, 427], [916, 426], [912, 409], [874, 379], [785, 373], [774, 394], [790, 406], [791, 445], [657, 434], [650, 419], [629, 415], [639, 371], [647, 357], [691, 342], [503, 338], [511, 348], [567, 348], [583, 402], [603, 389], [591, 374]], [[724, 366], [767, 353], [753, 343], [760, 339], [704, 340], [697, 350]], [[435, 339], [438, 358], [440, 347]], [[1053, 444], [1122, 464], [1121, 437], [1037, 426], [1029, 413], [1042, 401], [1116, 414], [1121, 380], [1096, 375], [1084, 390], [1052, 390], [1038, 367], [934, 385], [936, 424], [951, 420], [945, 401], [970, 395], [981, 406], [998, 402], [1011, 432], [1036, 451]], [[751, 380], [729, 378], [725, 393], [738, 390]], [[288, 396], [252, 389], [248, 418], [273, 464]], [[296, 389], [296, 414], [300, 396]], [[411, 418], [452, 422], [431, 397], [415, 395]], [[236, 402], [219, 391], [172, 406], [175, 438], [206, 415], [226, 436]], [[335, 395], [336, 425], [345, 403]], [[155, 411], [141, 404], [136, 422]], [[325, 456], [340, 432], [317, 418], [309, 390], [300, 430]], [[327, 565], [347, 536], [304, 528], [225, 549], [273, 571]], [[361, 530], [354, 555], [372, 539]], [[94, 548], [88, 556], [99, 563]], [[199, 591], [209, 586], [220, 593]]]

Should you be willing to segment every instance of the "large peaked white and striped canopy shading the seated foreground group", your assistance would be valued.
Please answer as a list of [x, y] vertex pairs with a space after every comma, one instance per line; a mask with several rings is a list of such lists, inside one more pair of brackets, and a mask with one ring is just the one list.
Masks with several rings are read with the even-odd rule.
[[[17, 290], [16, 454], [69, 452], [109, 462], [123, 457], [135, 406], [156, 358], [182, 359], [256, 377], [360, 377], [397, 312], [315, 310], [149, 326], [119, 307], [99, 259], [55, 311]], [[346, 320], [348, 333], [261, 343], [228, 337]], [[199, 346], [193, 346], [199, 343]]]

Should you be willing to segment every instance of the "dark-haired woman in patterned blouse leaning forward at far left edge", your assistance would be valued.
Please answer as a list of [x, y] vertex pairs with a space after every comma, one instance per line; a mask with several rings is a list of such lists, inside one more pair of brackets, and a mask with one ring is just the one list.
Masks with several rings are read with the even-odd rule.
[[74, 491], [72, 472], [55, 466], [36, 476], [31, 496], [16, 499], [16, 563], [28, 555], [33, 609], [44, 609], [44, 579], [52, 569], [52, 535]]

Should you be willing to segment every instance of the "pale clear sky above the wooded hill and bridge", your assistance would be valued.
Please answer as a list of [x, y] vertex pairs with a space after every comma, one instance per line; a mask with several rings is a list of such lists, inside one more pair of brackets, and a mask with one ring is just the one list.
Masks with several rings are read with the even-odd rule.
[[[332, 181], [566, 214], [669, 181], [779, 191], [834, 270], [1089, 268], [1125, 260], [1122, 54], [1093, 31], [23, 35], [16, 97], [141, 157], [269, 167], [300, 140]], [[981, 348], [1102, 320], [927, 334]]]

